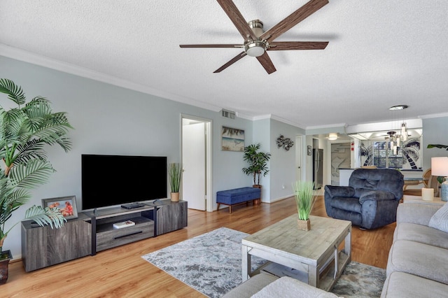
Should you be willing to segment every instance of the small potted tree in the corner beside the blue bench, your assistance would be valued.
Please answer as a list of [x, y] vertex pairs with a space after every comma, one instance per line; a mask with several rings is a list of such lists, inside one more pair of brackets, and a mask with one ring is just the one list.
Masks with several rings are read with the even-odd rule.
[[253, 187], [260, 187], [260, 176], [266, 176], [269, 169], [267, 168], [267, 162], [271, 158], [269, 152], [260, 151], [260, 143], [252, 144], [244, 147], [243, 159], [248, 162], [249, 166], [243, 168], [243, 172], [247, 176], [253, 176]]

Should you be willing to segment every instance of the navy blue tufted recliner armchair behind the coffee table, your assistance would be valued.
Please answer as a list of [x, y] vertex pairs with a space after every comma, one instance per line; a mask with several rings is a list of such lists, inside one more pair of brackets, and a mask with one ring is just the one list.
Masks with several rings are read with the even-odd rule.
[[396, 220], [403, 185], [400, 171], [356, 169], [349, 186], [325, 185], [327, 215], [365, 229], [383, 227]]

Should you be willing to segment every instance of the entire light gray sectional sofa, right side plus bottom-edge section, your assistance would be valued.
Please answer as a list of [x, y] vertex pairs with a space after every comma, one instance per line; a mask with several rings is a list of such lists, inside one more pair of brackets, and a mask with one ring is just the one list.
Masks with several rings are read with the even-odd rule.
[[[381, 297], [448, 297], [447, 269], [448, 203], [444, 207], [400, 204]], [[276, 278], [262, 273], [249, 278], [224, 297], [334, 298], [337, 295], [293, 278]]]

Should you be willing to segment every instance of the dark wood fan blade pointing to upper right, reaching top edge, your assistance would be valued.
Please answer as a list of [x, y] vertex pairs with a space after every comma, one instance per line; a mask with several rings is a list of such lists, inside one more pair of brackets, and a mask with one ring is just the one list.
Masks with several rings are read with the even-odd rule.
[[295, 12], [291, 13], [285, 19], [281, 20], [279, 24], [276, 24], [271, 29], [267, 30], [263, 33], [260, 38], [274, 41], [275, 38], [281, 36], [281, 34], [285, 33], [292, 27], [294, 27], [302, 20], [306, 19], [313, 13], [316, 13], [317, 10], [321, 9], [323, 6], [328, 4], [328, 0], [311, 0], [306, 3], [301, 8], [295, 10]]

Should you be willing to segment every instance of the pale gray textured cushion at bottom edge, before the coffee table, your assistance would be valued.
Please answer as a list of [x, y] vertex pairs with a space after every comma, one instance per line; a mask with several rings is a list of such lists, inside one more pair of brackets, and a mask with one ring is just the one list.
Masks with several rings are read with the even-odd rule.
[[273, 283], [269, 283], [260, 292], [252, 296], [253, 298], [291, 297], [291, 298], [337, 298], [337, 295], [314, 288], [307, 283], [302, 283], [295, 278], [283, 276]]

